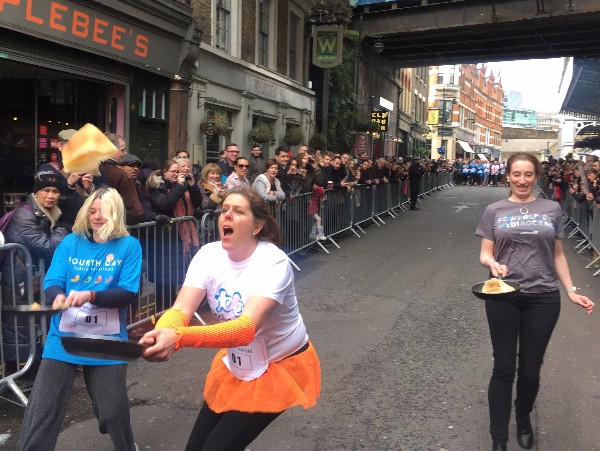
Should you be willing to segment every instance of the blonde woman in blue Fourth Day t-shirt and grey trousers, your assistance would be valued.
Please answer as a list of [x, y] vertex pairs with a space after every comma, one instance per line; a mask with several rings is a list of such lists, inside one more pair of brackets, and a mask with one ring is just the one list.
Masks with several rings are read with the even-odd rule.
[[[79, 365], [100, 432], [115, 450], [135, 449], [129, 421], [127, 364], [69, 354], [60, 337], [74, 334], [127, 339], [127, 307], [136, 300], [142, 249], [125, 226], [125, 206], [113, 188], [85, 201], [73, 233], [54, 253], [44, 280], [52, 315], [42, 363], [25, 410], [22, 450], [54, 449]], [[87, 321], [100, 318], [101, 321]]]

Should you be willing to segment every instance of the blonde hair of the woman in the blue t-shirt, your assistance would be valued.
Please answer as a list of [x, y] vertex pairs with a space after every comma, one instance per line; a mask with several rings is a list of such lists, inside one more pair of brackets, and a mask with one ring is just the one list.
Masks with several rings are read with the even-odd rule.
[[129, 235], [125, 225], [125, 204], [123, 204], [119, 192], [114, 188], [97, 189], [86, 199], [75, 218], [73, 232], [84, 238], [91, 235], [89, 213], [92, 203], [96, 199], [101, 200], [102, 216], [106, 218], [106, 223], [98, 230], [100, 239], [108, 241]]

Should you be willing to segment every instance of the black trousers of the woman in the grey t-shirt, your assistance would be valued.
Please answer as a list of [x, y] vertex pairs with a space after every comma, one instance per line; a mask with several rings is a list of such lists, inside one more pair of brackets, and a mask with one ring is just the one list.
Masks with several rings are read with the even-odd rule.
[[485, 312], [494, 348], [494, 370], [488, 389], [490, 434], [494, 440], [505, 441], [517, 355], [515, 409], [528, 414], [540, 386], [546, 346], [560, 313], [560, 292], [522, 294], [511, 301], [486, 301]]

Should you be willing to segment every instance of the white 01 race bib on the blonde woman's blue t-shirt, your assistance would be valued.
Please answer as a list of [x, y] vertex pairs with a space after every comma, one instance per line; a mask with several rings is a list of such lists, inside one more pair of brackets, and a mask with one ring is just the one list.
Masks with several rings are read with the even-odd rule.
[[119, 309], [99, 308], [86, 302], [63, 311], [58, 329], [75, 334], [115, 335], [121, 331]]

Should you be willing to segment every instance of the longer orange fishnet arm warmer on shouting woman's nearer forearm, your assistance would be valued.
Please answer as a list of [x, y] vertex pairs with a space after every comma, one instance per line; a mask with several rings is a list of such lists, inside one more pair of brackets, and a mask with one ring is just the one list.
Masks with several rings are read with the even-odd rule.
[[256, 327], [249, 316], [212, 326], [177, 327], [175, 349], [187, 348], [235, 348], [249, 345], [254, 340]]

